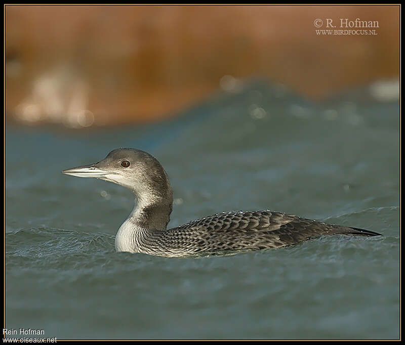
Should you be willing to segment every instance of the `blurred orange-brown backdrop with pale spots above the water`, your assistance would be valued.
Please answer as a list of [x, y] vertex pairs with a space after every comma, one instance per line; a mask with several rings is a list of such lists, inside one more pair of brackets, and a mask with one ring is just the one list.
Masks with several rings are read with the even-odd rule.
[[[399, 6], [6, 6], [6, 114], [68, 127], [157, 120], [253, 78], [321, 100], [399, 75]], [[317, 34], [315, 19], [378, 21]], [[337, 27], [340, 28], [340, 27]], [[362, 29], [362, 28], [360, 28]]]

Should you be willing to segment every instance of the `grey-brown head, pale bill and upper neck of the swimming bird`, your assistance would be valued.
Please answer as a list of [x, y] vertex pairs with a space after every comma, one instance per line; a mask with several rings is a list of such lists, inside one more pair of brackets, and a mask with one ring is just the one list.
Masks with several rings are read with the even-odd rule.
[[137, 197], [139, 206], [151, 208], [152, 205], [165, 205], [170, 206], [171, 211], [173, 192], [166, 171], [156, 158], [145, 151], [116, 149], [97, 163], [62, 172], [116, 183], [130, 189]]

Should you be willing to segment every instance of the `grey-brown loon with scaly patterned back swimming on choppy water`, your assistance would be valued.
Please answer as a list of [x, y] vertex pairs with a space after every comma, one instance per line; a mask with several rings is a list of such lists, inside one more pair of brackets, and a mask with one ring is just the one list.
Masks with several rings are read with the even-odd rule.
[[115, 237], [117, 251], [159, 256], [215, 255], [293, 245], [320, 235], [380, 235], [282, 212], [232, 211], [167, 229], [173, 191], [165, 169], [145, 151], [120, 148], [103, 160], [62, 171], [130, 189], [137, 200]]

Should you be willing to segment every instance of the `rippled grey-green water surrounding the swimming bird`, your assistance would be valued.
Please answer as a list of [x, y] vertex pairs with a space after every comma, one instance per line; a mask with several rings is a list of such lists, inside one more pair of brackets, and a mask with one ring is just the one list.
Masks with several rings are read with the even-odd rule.
[[[6, 128], [6, 327], [79, 338], [399, 338], [399, 105], [252, 84], [173, 120]], [[272, 209], [370, 229], [208, 258], [116, 253], [119, 186], [62, 175], [117, 147], [163, 164], [169, 226]]]

